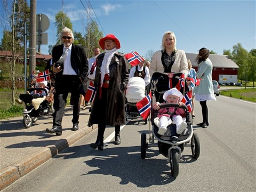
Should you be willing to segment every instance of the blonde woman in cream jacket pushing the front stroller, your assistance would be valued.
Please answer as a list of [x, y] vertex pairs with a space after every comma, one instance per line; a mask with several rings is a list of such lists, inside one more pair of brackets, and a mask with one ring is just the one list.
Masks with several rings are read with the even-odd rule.
[[173, 32], [163, 35], [162, 50], [156, 51], [150, 65], [150, 76], [155, 72], [183, 73], [188, 75], [188, 62], [185, 51], [177, 50], [176, 38]]

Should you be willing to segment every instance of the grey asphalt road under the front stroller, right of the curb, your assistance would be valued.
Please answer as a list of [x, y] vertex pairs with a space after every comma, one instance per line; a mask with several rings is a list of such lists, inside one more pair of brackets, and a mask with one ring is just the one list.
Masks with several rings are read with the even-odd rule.
[[[92, 131], [3, 191], [256, 191], [256, 105], [217, 99], [207, 102], [210, 126], [194, 126], [201, 155], [194, 161], [185, 148], [176, 179], [157, 145], [140, 158], [140, 135], [148, 137], [149, 125], [131, 121], [121, 130], [121, 145], [113, 144], [114, 127], [108, 127], [105, 149], [94, 150], [90, 143], [97, 131]], [[194, 124], [200, 123], [198, 102], [195, 112]]]

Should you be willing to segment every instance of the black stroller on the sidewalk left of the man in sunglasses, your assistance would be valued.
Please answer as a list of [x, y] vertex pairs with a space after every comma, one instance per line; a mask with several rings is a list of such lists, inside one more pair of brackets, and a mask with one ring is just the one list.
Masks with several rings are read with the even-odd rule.
[[[32, 92], [32, 91], [45, 91], [43, 88], [29, 88], [27, 92]], [[52, 89], [49, 91], [48, 97], [52, 93]], [[49, 111], [51, 109], [51, 101], [49, 99], [46, 99], [40, 103], [39, 108], [36, 110], [35, 107], [33, 106], [32, 100], [33, 100], [33, 95], [31, 94], [20, 94], [20, 100], [25, 103], [26, 108], [23, 109], [23, 125], [26, 128], [31, 127], [33, 123], [35, 123], [38, 119], [38, 117], [42, 117], [45, 115], [49, 114]]]

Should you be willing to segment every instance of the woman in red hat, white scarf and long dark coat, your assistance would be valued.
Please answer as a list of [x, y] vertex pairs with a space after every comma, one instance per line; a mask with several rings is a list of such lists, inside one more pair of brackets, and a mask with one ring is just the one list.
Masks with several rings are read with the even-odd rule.
[[129, 78], [128, 61], [118, 52], [121, 45], [112, 34], [99, 41], [105, 53], [97, 57], [94, 86], [97, 90], [88, 126], [98, 124], [98, 136], [92, 148], [103, 150], [106, 125], [115, 126], [115, 145], [121, 143], [120, 125], [125, 124], [125, 89]]

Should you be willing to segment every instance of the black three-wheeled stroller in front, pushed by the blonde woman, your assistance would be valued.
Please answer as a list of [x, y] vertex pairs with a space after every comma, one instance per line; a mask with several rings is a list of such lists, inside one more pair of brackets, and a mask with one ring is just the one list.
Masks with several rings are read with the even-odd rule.
[[[173, 74], [165, 74], [165, 73], [154, 73], [152, 76], [153, 82], [153, 89], [152, 92], [152, 103], [153, 106], [156, 101], [162, 103], [163, 94], [165, 91], [169, 90], [169, 84], [171, 87], [175, 87], [179, 82], [179, 77], [181, 73], [173, 73]], [[171, 81], [169, 81], [171, 79]], [[183, 93], [183, 88], [180, 90]], [[188, 92], [188, 87], [186, 87], [185, 83], [185, 93]], [[192, 156], [193, 158], [197, 159], [200, 155], [200, 143], [199, 137], [196, 133], [193, 132], [193, 122], [191, 113], [189, 113], [188, 108], [185, 105], [181, 107], [176, 103], [165, 103], [161, 105], [160, 108], [168, 108], [168, 107], [175, 107], [175, 108], [182, 108], [185, 111], [185, 118], [187, 123], [187, 128], [181, 133], [177, 134], [176, 132], [176, 125], [171, 124], [167, 127], [169, 133], [164, 137], [159, 135], [158, 127], [154, 123], [154, 118], [157, 115], [157, 111], [153, 108], [151, 109], [151, 124], [153, 125], [152, 132], [153, 135], [149, 135], [149, 143], [154, 144], [155, 140], [157, 139], [157, 144], [159, 148], [159, 152], [167, 157], [170, 161], [171, 166], [171, 174], [173, 177], [177, 177], [179, 174], [179, 162], [182, 159], [181, 153], [184, 147], [191, 147]], [[149, 125], [150, 127], [150, 125]], [[174, 136], [174, 137], [173, 137]], [[173, 139], [174, 138], [174, 139]], [[146, 133], [141, 134], [141, 158], [146, 158], [146, 149], [148, 149], [148, 143], [146, 138]]]

